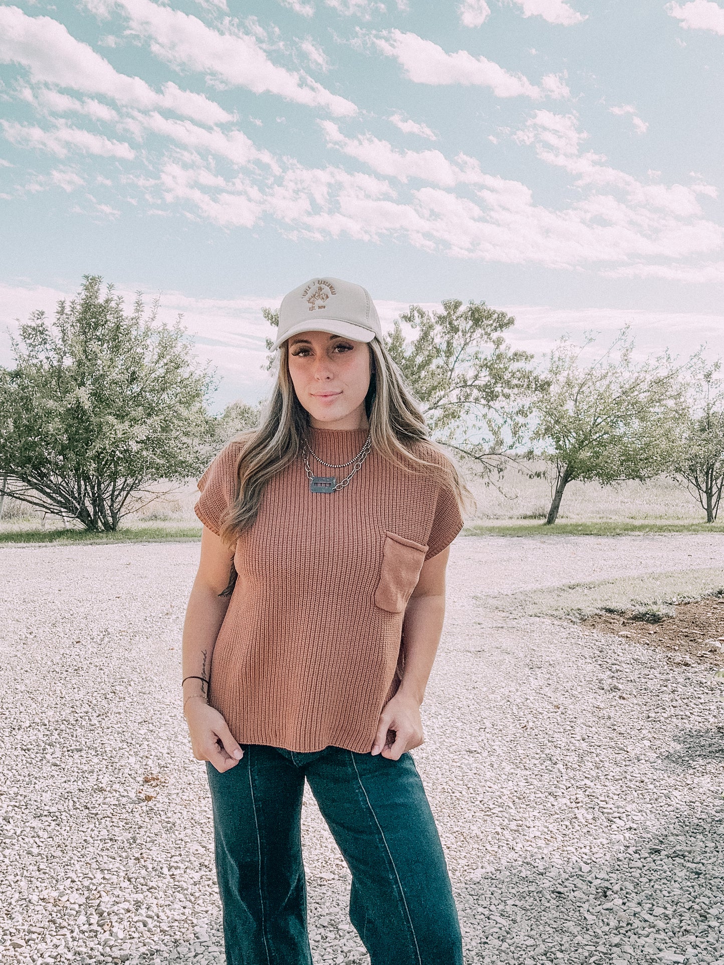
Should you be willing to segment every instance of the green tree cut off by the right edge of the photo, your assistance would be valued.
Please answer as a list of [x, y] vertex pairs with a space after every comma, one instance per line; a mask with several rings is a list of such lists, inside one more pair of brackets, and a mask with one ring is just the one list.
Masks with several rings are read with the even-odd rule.
[[674, 459], [675, 470], [713, 523], [724, 490], [724, 383], [720, 362], [694, 360]]

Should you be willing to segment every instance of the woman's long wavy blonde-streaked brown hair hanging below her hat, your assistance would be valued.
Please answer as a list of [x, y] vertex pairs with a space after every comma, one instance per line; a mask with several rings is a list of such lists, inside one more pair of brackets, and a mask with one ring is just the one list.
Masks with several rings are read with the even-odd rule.
[[[462, 509], [470, 493], [451, 460], [428, 436], [425, 418], [405, 384], [403, 373], [377, 338], [370, 347], [370, 388], [365, 409], [372, 448], [405, 472], [428, 472], [449, 483]], [[289, 372], [289, 345], [281, 345], [279, 368], [262, 424], [238, 436], [243, 448], [237, 462], [237, 495], [221, 519], [221, 538], [230, 546], [257, 518], [265, 485], [302, 451], [309, 414], [296, 398]], [[434, 462], [418, 455], [419, 443], [437, 450]]]

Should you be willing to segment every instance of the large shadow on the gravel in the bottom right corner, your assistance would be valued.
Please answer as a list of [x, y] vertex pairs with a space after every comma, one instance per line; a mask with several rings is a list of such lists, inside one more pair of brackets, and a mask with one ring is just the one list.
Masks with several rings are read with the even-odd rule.
[[[456, 889], [465, 965], [724, 965], [724, 811], [681, 817], [609, 860], [539, 860]], [[476, 880], [477, 877], [477, 880]]]

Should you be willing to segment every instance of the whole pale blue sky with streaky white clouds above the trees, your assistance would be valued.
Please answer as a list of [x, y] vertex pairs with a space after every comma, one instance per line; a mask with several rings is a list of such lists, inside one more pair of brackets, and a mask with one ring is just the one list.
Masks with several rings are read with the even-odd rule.
[[160, 292], [223, 401], [315, 274], [721, 353], [723, 52], [712, 0], [2, 5], [0, 323]]

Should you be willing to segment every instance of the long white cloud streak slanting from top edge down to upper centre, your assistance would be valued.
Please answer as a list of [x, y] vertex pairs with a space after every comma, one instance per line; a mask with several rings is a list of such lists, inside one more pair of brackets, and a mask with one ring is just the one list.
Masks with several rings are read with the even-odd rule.
[[306, 74], [272, 64], [259, 40], [234, 21], [227, 21], [222, 33], [196, 16], [151, 0], [118, 0], [116, 6], [128, 17], [130, 31], [149, 40], [154, 56], [176, 69], [203, 71], [254, 94], [274, 94], [339, 117], [357, 112], [351, 101], [331, 94]]

